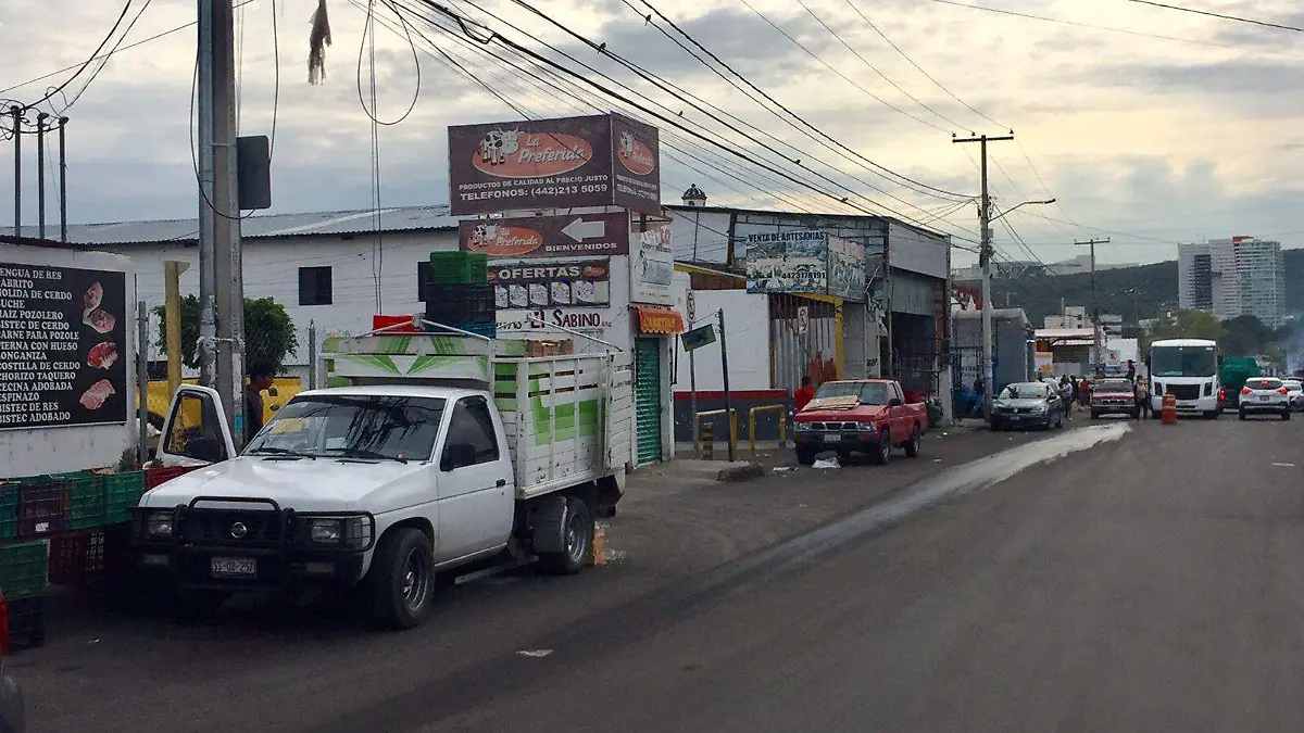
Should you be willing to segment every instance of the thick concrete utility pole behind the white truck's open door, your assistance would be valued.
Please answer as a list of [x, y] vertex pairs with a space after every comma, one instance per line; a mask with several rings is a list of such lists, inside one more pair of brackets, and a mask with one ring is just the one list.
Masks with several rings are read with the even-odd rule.
[[200, 380], [218, 390], [244, 443], [244, 287], [236, 193], [232, 0], [198, 0]]

